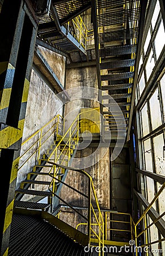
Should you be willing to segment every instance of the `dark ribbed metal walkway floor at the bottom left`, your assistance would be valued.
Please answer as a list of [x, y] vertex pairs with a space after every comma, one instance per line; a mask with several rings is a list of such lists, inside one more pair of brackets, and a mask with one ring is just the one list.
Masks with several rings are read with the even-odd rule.
[[52, 224], [36, 216], [13, 214], [9, 256], [90, 256]]

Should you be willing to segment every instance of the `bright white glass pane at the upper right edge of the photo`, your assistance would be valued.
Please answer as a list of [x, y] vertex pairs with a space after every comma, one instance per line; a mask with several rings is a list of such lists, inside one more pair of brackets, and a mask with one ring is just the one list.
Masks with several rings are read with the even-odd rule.
[[165, 32], [164, 32], [164, 26], [163, 26], [163, 20], [162, 20], [155, 38], [155, 51], [156, 51], [157, 60], [160, 55], [160, 52], [162, 52], [162, 49], [165, 43], [165, 40], [163, 40], [164, 38], [165, 38]]

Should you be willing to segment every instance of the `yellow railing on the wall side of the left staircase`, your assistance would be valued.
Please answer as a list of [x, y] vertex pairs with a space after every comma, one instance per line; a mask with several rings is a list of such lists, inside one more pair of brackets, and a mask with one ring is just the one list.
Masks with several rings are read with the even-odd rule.
[[[23, 159], [23, 163], [19, 166], [19, 170], [26, 164], [29, 159], [32, 158], [36, 154], [37, 162], [41, 157], [41, 147], [48, 141], [48, 139], [54, 135], [63, 135], [63, 131], [65, 128], [65, 119], [60, 115], [56, 115], [53, 119], [51, 119], [48, 123], [46, 123], [43, 127], [33, 133], [28, 139], [23, 141], [22, 148], [26, 145], [26, 150], [20, 155], [20, 160], [23, 159], [25, 155], [28, 155], [27, 159]], [[28, 146], [29, 144], [29, 146]], [[28, 154], [27, 154], [28, 153]]]

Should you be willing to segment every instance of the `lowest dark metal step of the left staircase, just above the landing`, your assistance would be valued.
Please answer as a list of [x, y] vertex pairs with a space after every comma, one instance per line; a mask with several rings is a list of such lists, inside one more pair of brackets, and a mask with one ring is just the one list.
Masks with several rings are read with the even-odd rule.
[[28, 208], [28, 209], [45, 210], [46, 208], [50, 207], [50, 204], [42, 204], [42, 203], [34, 203], [34, 202], [28, 202], [28, 201], [15, 200], [14, 207], [25, 208], [25, 209]]

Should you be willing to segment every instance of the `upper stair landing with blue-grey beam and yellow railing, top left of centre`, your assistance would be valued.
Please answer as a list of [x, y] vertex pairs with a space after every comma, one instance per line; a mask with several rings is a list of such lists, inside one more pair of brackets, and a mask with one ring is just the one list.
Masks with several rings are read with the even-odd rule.
[[[54, 1], [46, 16], [39, 16], [37, 36], [61, 52], [82, 52], [86, 55], [87, 28], [79, 14], [91, 6], [91, 1]], [[79, 16], [78, 16], [79, 15]], [[37, 43], [40, 44], [40, 40]], [[44, 43], [41, 44], [44, 46]]]

